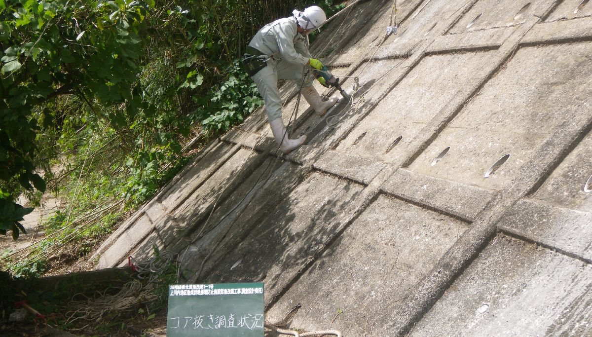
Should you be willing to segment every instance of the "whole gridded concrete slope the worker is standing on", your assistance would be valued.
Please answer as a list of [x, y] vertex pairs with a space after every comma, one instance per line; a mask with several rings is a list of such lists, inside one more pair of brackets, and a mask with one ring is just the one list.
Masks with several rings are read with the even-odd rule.
[[156, 245], [187, 282], [264, 282], [269, 323], [300, 304], [288, 326], [343, 336], [591, 336], [592, 4], [397, 1], [387, 36], [392, 5], [312, 46], [351, 101], [320, 118], [282, 86], [306, 145], [278, 155], [257, 111], [98, 268]]

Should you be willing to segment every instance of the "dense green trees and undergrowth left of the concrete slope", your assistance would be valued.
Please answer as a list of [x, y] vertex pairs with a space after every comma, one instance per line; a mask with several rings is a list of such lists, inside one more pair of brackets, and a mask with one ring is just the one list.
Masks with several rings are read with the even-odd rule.
[[312, 3], [0, 0], [0, 234], [24, 232], [33, 208], [18, 195], [64, 201], [4, 267], [37, 276], [87, 255], [193, 149], [242, 123], [262, 100], [238, 57], [263, 24]]

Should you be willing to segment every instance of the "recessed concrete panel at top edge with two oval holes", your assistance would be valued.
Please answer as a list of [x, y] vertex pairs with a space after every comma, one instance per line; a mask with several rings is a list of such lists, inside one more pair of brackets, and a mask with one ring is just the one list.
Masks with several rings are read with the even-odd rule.
[[553, 0], [479, 0], [449, 31], [450, 34], [510, 27], [538, 17], [554, 4]]

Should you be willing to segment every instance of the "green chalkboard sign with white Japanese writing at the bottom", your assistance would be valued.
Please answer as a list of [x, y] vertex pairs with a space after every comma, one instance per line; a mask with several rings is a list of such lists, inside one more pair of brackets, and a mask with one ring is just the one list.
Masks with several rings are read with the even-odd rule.
[[168, 337], [262, 337], [263, 283], [169, 286]]

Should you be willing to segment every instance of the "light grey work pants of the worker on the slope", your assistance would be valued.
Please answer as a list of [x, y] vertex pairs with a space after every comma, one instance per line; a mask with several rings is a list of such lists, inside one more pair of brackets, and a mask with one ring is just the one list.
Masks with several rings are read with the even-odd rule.
[[[308, 66], [290, 63], [285, 60], [276, 61], [271, 59], [268, 60], [265, 68], [259, 70], [252, 77], [259, 94], [265, 101], [268, 121], [282, 117], [282, 97], [279, 95], [278, 79], [291, 79], [300, 88], [305, 67]], [[304, 88], [311, 85], [313, 85], [313, 76], [309, 71], [302, 86]]]

